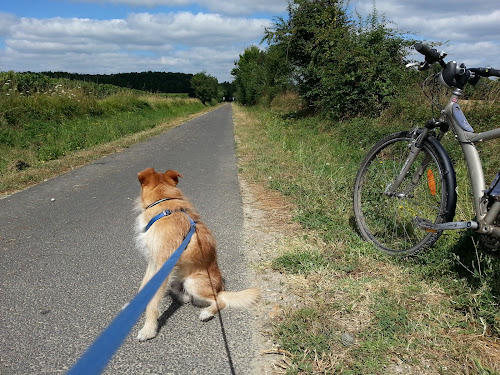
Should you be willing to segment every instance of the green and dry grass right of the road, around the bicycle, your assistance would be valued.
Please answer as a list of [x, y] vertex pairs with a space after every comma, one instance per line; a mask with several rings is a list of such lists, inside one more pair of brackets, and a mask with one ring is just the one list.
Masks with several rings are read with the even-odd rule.
[[[353, 225], [359, 164], [383, 135], [414, 126], [402, 125], [406, 116], [332, 123], [236, 108], [242, 175], [281, 192], [307, 233], [272, 261], [274, 269], [303, 277], [307, 287], [290, 287], [310, 297], [274, 322], [276, 339], [293, 355], [289, 374], [500, 371], [499, 259], [462, 231], [447, 232], [419, 257], [391, 258], [362, 241]], [[445, 145], [458, 174], [456, 220], [469, 220], [467, 171], [454, 142], [449, 136]], [[498, 170], [498, 147], [481, 145], [488, 178]], [[356, 338], [354, 346], [341, 343], [344, 332]]]

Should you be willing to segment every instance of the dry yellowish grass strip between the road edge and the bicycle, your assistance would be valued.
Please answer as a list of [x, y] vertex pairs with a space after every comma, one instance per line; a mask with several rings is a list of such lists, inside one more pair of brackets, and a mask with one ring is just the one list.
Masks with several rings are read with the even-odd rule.
[[[252, 112], [236, 106], [234, 121], [241, 178], [245, 184], [251, 184], [253, 205], [264, 212], [265, 223], [262, 225], [269, 231], [283, 234], [281, 240], [274, 243], [273, 251], [268, 252], [269, 258], [256, 267], [258, 272], [269, 278], [273, 260], [283, 254], [319, 253], [329, 260], [326, 266], [312, 271], [283, 274], [283, 288], [295, 298], [288, 304], [279, 303], [277, 310], [269, 312], [268, 319], [275, 327], [278, 341], [290, 339], [279, 336], [285, 332], [280, 327], [291, 329], [305, 324], [307, 332], [298, 330], [298, 340], [305, 343], [309, 336], [316, 335], [327, 340], [330, 349], [306, 346], [302, 353], [290, 353], [292, 350], [285, 346], [283, 349], [289, 355], [280, 358], [276, 373], [352, 371], [350, 373], [364, 374], [367, 368], [363, 368], [360, 361], [365, 360], [362, 356], [367, 353], [371, 353], [370, 360], [384, 363], [380, 367], [373, 365], [374, 371], [370, 373], [500, 373], [500, 339], [492, 336], [481, 320], [478, 324], [477, 318], [470, 319], [467, 313], [456, 310], [455, 296], [447, 292], [438, 280], [430, 282], [420, 277], [414, 273], [411, 264], [391, 262], [385, 257], [352, 248], [349, 239], [336, 238], [327, 242], [313, 230], [298, 225], [293, 220], [298, 210], [293, 198], [271, 190], [268, 176], [258, 165], [267, 157], [263, 154], [266, 146], [272, 150], [275, 145], [263, 145], [267, 142], [265, 133]], [[282, 176], [294, 178], [294, 175], [303, 173], [293, 169], [293, 165], [293, 170], [287, 170], [287, 165], [287, 160], [279, 165]], [[271, 306], [275, 305], [269, 302], [268, 308]], [[317, 315], [313, 321], [304, 322], [303, 316], [297, 314], [301, 310], [311, 310]], [[393, 315], [394, 311], [402, 315]], [[396, 330], [396, 337], [389, 337], [386, 341], [383, 336], [387, 332], [383, 331], [380, 322], [384, 313], [388, 314], [385, 324], [389, 330], [391, 324]], [[402, 327], [397, 319], [401, 319]], [[346, 347], [341, 343], [338, 335], [343, 332], [356, 338], [354, 346]], [[318, 343], [324, 347], [322, 344]], [[370, 345], [375, 347], [370, 348]]]

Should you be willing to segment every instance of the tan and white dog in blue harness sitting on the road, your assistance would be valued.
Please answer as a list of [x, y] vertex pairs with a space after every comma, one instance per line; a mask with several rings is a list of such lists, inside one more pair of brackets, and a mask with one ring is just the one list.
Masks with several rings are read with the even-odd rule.
[[[141, 194], [137, 200], [136, 240], [148, 262], [139, 290], [184, 240], [191, 225], [189, 217], [196, 223], [196, 230], [176, 266], [146, 307], [144, 327], [137, 336], [139, 341], [156, 336], [159, 305], [168, 287], [179, 302], [204, 307], [200, 313], [202, 321], [212, 319], [225, 307], [251, 308], [260, 297], [260, 290], [256, 288], [240, 292], [224, 290], [217, 264], [215, 238], [200, 220], [193, 205], [177, 188], [179, 178], [182, 175], [175, 170], [159, 173], [147, 168], [138, 173]], [[169, 215], [151, 222], [165, 210]]]

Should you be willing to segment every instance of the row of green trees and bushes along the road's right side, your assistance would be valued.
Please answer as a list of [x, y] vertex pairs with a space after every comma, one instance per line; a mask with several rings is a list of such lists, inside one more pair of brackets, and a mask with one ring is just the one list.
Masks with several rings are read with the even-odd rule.
[[297, 92], [308, 108], [342, 119], [377, 115], [398, 96], [411, 72], [414, 43], [388, 27], [376, 9], [367, 18], [342, 0], [291, 0], [288, 18], [265, 30], [267, 48], [248, 47], [232, 75], [243, 104]]

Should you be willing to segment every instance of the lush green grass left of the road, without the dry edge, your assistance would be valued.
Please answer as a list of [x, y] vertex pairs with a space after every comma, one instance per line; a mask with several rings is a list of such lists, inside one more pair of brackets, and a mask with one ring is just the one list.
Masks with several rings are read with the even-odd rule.
[[[46, 103], [53, 106], [54, 103]], [[68, 106], [69, 107], [69, 106]], [[0, 142], [5, 148], [31, 151], [39, 161], [58, 159], [67, 152], [107, 143], [147, 130], [176, 116], [199, 111], [198, 101], [165, 99], [152, 103], [147, 97], [118, 94], [97, 102], [99, 115], [58, 119], [50, 113], [33, 117], [19, 126], [2, 126]], [[68, 109], [68, 112], [74, 111]], [[4, 154], [5, 155], [5, 154]], [[3, 157], [4, 165], [9, 159]]]

